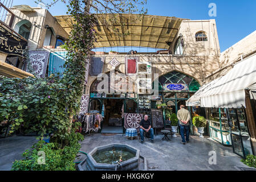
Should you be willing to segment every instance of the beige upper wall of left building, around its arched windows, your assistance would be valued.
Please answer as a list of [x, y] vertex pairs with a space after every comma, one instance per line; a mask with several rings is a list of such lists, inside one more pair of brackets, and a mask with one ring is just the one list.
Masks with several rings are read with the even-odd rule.
[[[11, 28], [15, 31], [17, 29], [17, 23], [23, 19], [29, 20], [32, 23], [32, 28], [30, 32], [29, 38], [29, 49], [34, 50], [37, 48], [43, 47], [44, 37], [46, 35], [46, 24], [55, 32], [55, 36], [52, 36], [51, 39], [51, 46], [55, 46], [56, 42], [56, 35], [63, 36], [65, 38], [68, 37], [68, 34], [64, 29], [60, 26], [60, 24], [56, 21], [56, 19], [48, 12], [48, 10], [40, 9], [40, 8], [33, 8], [35, 11], [19, 11], [17, 9], [11, 9], [15, 14], [14, 23]], [[9, 20], [7, 19], [7, 23]]]

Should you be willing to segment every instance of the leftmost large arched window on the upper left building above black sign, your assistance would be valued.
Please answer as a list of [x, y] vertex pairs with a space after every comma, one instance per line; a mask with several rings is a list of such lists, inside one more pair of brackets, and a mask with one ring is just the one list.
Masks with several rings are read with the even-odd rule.
[[29, 20], [23, 19], [21, 22], [18, 22], [14, 30], [18, 32], [19, 35], [23, 36], [25, 39], [29, 39], [30, 32], [32, 28], [32, 23]]

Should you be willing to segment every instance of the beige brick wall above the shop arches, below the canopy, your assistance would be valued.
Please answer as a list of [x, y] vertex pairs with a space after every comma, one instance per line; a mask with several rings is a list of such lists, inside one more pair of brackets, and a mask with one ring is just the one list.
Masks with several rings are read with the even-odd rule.
[[[125, 56], [128, 55], [94, 55], [95, 57], [105, 57], [103, 73], [111, 71], [112, 66], [109, 62], [115, 57], [121, 64], [116, 67], [116, 71], [125, 73]], [[202, 67], [204, 56], [177, 56], [177, 55], [136, 55], [140, 57], [140, 61], [148, 61], [152, 63], [152, 73], [158, 73], [159, 77], [172, 71], [185, 73], [195, 78], [199, 84], [203, 84], [205, 72]], [[90, 76], [88, 79], [87, 93], [90, 92], [92, 82], [96, 80], [96, 76]], [[152, 76], [153, 81], [153, 76]]]

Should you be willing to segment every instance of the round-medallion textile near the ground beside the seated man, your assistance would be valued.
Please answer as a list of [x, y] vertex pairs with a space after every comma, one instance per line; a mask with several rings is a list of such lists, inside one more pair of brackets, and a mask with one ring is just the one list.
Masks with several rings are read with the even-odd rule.
[[137, 129], [140, 133], [140, 121], [143, 119], [143, 114], [124, 113], [124, 128]]

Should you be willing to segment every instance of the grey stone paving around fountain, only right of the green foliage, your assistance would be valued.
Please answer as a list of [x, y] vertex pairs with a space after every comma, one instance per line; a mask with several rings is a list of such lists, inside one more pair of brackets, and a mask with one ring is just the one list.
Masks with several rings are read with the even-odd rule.
[[[171, 139], [170, 142], [162, 141], [163, 135], [155, 137], [155, 143], [152, 144], [145, 139], [144, 144], [139, 139], [130, 140], [122, 134], [113, 136], [104, 136], [103, 134], [94, 134], [92, 137], [85, 137], [80, 151], [90, 152], [93, 148], [104, 146], [110, 143], [129, 144], [140, 150], [140, 154], [147, 158], [148, 170], [161, 171], [232, 171], [237, 170], [235, 166], [247, 167], [240, 162], [241, 158], [233, 154], [232, 147], [222, 146], [210, 138], [199, 138], [192, 136], [190, 143], [181, 144], [181, 138]], [[170, 138], [170, 136], [169, 136]], [[210, 165], [208, 155], [210, 151], [216, 151], [217, 164]], [[85, 156], [81, 155], [80, 158]]]

